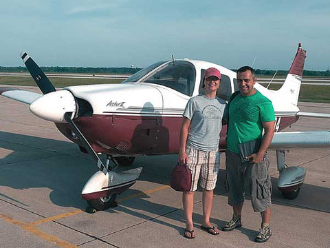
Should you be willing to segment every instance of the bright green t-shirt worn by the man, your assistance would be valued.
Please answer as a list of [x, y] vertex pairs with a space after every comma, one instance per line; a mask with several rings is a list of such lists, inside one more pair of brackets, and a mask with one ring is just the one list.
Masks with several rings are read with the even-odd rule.
[[230, 152], [239, 153], [237, 147], [239, 143], [261, 138], [263, 135], [262, 123], [275, 121], [272, 102], [259, 91], [252, 96], [238, 94], [229, 106], [227, 149]]

